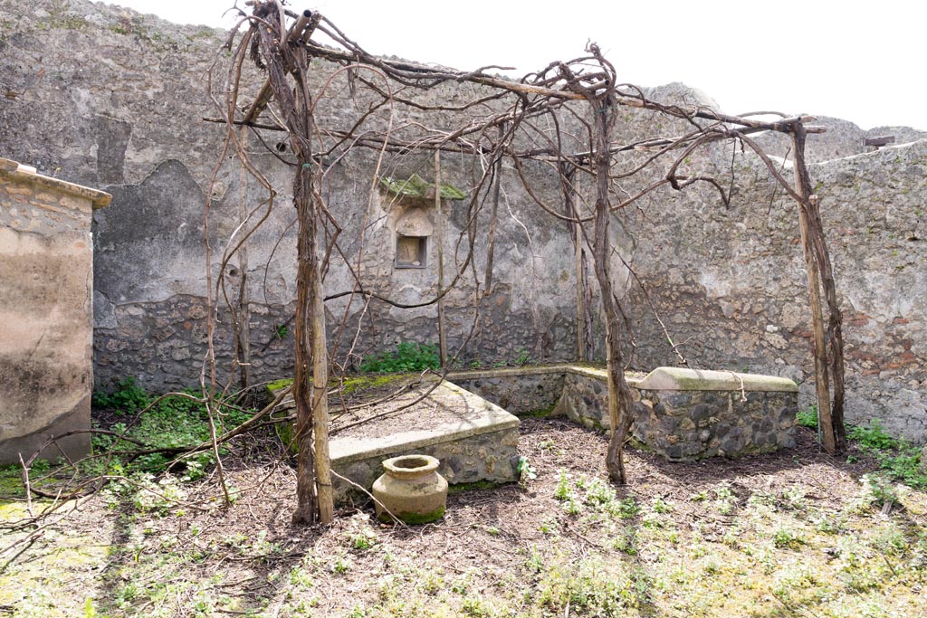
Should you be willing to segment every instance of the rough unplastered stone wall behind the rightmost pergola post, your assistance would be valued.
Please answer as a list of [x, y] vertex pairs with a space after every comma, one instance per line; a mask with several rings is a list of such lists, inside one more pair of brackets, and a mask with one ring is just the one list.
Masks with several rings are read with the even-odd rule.
[[[709, 165], [706, 163], [706, 165]], [[629, 213], [637, 271], [636, 364], [676, 361], [655, 309], [692, 366], [783, 375], [813, 403], [806, 274], [794, 202], [756, 158], [730, 146], [714, 173], [736, 181], [730, 208], [692, 192]], [[783, 168], [788, 177], [791, 170]], [[846, 419], [878, 418], [927, 438], [927, 141], [811, 166], [844, 311]], [[645, 345], [641, 345], [644, 343]]]

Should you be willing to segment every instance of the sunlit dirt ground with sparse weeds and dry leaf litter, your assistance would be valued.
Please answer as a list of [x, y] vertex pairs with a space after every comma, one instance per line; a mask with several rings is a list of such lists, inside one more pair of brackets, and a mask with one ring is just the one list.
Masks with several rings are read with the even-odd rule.
[[873, 488], [872, 461], [799, 432], [741, 460], [631, 450], [616, 490], [603, 435], [526, 418], [520, 484], [453, 493], [433, 524], [362, 507], [309, 529], [290, 523], [281, 449], [248, 437], [226, 458], [227, 509], [212, 475], [84, 498], [38, 532], [0, 502], [0, 547], [32, 536], [3, 554], [0, 615], [925, 615], [927, 496]]

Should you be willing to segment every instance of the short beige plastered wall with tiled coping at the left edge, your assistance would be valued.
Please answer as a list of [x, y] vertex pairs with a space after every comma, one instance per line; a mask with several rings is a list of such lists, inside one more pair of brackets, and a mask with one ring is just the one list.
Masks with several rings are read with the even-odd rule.
[[[90, 428], [90, 221], [109, 195], [0, 158], [0, 463]], [[81, 456], [90, 435], [43, 456]]]

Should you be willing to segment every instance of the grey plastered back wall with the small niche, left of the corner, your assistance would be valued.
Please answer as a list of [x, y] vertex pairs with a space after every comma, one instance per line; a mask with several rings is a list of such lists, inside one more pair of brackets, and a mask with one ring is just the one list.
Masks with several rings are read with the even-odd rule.
[[[83, 0], [42, 0], [28, 6], [0, 0], [4, 29], [0, 37], [0, 85], [8, 103], [0, 107], [0, 152], [30, 161], [45, 173], [77, 182], [102, 184], [113, 195], [111, 208], [95, 216], [95, 367], [96, 384], [110, 388], [133, 376], [147, 388], [195, 385], [210, 356], [207, 321], [208, 289], [215, 289], [222, 253], [237, 228], [240, 203], [253, 219], [267, 215], [248, 240], [248, 268], [237, 259], [225, 268], [226, 286], [213, 308], [219, 324], [212, 354], [222, 371], [229, 366], [235, 334], [226, 300], [235, 304], [242, 277], [250, 296], [251, 374], [254, 381], [277, 378], [292, 367], [295, 291], [294, 211], [290, 168], [250, 137], [253, 162], [279, 192], [273, 208], [262, 205], [266, 194], [254, 179], [241, 183], [236, 165], [217, 168], [222, 157], [221, 125], [204, 122], [217, 111], [205, 89], [210, 65], [223, 57], [225, 33], [183, 27], [140, 16], [117, 7]], [[321, 89], [333, 68], [319, 63]], [[263, 77], [246, 68], [253, 98]], [[220, 70], [217, 79], [224, 73]], [[362, 95], [355, 100], [342, 75], [320, 100], [317, 113], [325, 126], [347, 128]], [[461, 102], [454, 86], [423, 95], [424, 103]], [[394, 125], [425, 122], [451, 127], [463, 117], [417, 111], [393, 119]], [[382, 128], [386, 114], [369, 120]], [[364, 127], [367, 128], [367, 127]], [[400, 131], [400, 129], [396, 129]], [[408, 131], [408, 129], [406, 129]], [[276, 145], [274, 132], [260, 140]], [[326, 176], [322, 191], [328, 207], [344, 227], [343, 256], [335, 252], [325, 280], [330, 296], [355, 287], [351, 268], [361, 273], [365, 289], [391, 300], [415, 305], [438, 290], [438, 253], [429, 239], [424, 268], [397, 268], [396, 225], [416, 205], [398, 201], [376, 189], [375, 151], [357, 151], [342, 158]], [[285, 156], [286, 158], [286, 156]], [[443, 182], [466, 191], [477, 162], [445, 157]], [[430, 154], [388, 156], [381, 174], [433, 179]], [[527, 166], [541, 195], [559, 195], [555, 177]], [[204, 218], [207, 196], [210, 217]], [[243, 200], [244, 195], [244, 200]], [[500, 220], [495, 234], [494, 284], [484, 286], [488, 208], [477, 219], [481, 231], [472, 242], [463, 233], [472, 216], [468, 195], [445, 200], [441, 215], [425, 205], [425, 218], [444, 225], [447, 280], [462, 278], [445, 301], [448, 341], [454, 353], [467, 342], [462, 361], [511, 360], [519, 350], [534, 359], [571, 359], [575, 348], [575, 309], [570, 281], [573, 248], [565, 226], [535, 208], [509, 167], [502, 171]], [[421, 206], [421, 205], [419, 205]], [[212, 260], [207, 279], [209, 230]], [[358, 240], [363, 237], [363, 244]], [[362, 257], [361, 257], [362, 256]], [[211, 288], [210, 288], [211, 285]], [[474, 328], [475, 298], [482, 298]], [[438, 339], [434, 304], [397, 309], [361, 297], [341, 296], [326, 303], [333, 347], [359, 355], [393, 347], [401, 341]], [[360, 330], [360, 336], [355, 334]], [[222, 378], [223, 375], [220, 375]]]

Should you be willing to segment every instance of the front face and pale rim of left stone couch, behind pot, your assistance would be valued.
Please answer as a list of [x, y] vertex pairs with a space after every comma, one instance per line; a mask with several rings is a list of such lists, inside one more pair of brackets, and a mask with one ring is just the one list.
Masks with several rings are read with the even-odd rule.
[[[369, 490], [383, 473], [383, 460], [424, 454], [440, 461], [438, 473], [450, 485], [517, 480], [518, 419], [460, 386], [444, 383], [438, 388], [451, 392], [468, 412], [476, 411], [476, 418], [385, 436], [335, 438], [331, 443], [332, 470]], [[341, 502], [369, 499], [338, 478], [335, 490]]]

